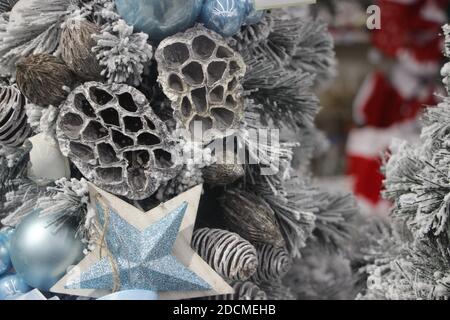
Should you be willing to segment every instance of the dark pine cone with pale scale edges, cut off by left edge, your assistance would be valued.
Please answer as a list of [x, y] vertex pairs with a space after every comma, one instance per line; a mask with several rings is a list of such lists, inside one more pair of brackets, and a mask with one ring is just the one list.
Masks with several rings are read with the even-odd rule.
[[19, 147], [31, 135], [25, 104], [16, 86], [0, 86], [0, 146]]

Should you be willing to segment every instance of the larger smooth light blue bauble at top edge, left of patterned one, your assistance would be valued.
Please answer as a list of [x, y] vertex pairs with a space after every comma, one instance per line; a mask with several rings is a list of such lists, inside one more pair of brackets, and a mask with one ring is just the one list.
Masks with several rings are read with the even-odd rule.
[[154, 41], [192, 27], [202, 4], [203, 0], [116, 0], [122, 18]]

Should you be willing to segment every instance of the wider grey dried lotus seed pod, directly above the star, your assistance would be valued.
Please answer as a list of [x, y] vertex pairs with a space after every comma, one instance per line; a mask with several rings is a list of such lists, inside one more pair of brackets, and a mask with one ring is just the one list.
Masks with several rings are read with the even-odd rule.
[[145, 96], [123, 84], [87, 82], [61, 107], [61, 151], [98, 187], [133, 200], [175, 177], [179, 148]]

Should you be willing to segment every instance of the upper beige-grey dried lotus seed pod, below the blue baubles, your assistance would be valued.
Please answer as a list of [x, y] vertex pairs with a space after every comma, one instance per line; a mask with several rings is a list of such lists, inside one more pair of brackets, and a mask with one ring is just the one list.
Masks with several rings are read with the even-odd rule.
[[[164, 93], [188, 134], [194, 124], [209, 134], [203, 141], [231, 134], [244, 115], [241, 79], [246, 65], [217, 33], [197, 26], [164, 39], [155, 54]], [[198, 139], [198, 137], [195, 137]]]

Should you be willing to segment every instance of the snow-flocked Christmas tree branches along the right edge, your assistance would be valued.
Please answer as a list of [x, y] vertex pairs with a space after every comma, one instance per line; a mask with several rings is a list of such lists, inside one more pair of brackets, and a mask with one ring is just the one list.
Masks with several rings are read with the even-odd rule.
[[[450, 29], [445, 56], [450, 57]], [[442, 69], [449, 90], [449, 65]], [[384, 196], [392, 224], [377, 226], [368, 246], [367, 289], [361, 299], [447, 300], [449, 278], [448, 97], [427, 109], [420, 142], [395, 141], [385, 164]]]

